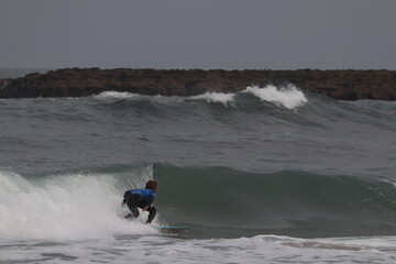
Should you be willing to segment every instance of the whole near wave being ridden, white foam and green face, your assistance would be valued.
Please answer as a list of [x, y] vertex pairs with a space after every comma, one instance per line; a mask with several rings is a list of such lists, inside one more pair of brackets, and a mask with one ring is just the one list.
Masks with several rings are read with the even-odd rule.
[[380, 179], [170, 164], [77, 170], [30, 176], [1, 172], [0, 238], [85, 240], [154, 233], [142, 224], [144, 213], [131, 223], [122, 218], [127, 209], [120, 208], [124, 190], [142, 187], [150, 178], [158, 182], [155, 221], [190, 226], [195, 238], [396, 234], [396, 187]]

